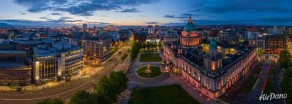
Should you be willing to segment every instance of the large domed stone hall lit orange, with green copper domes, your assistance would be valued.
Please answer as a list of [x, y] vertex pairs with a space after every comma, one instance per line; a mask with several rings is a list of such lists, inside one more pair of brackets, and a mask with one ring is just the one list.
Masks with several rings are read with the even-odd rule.
[[[253, 64], [256, 49], [253, 45], [235, 45], [224, 53], [219, 52], [215, 39], [210, 40], [208, 52], [203, 51], [199, 31], [192, 18], [185, 26], [179, 42], [165, 42], [163, 55], [174, 73], [180, 73], [185, 80], [210, 98], [218, 98], [246, 75]], [[221, 48], [222, 49], [225, 48]]]

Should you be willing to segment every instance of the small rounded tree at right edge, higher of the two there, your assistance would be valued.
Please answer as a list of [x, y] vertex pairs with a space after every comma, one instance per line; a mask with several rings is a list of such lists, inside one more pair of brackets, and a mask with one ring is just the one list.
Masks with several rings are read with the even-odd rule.
[[279, 62], [280, 62], [280, 67], [284, 67], [284, 68], [287, 68], [290, 65], [292, 65], [290, 53], [288, 51], [282, 51], [282, 53], [280, 54]]

